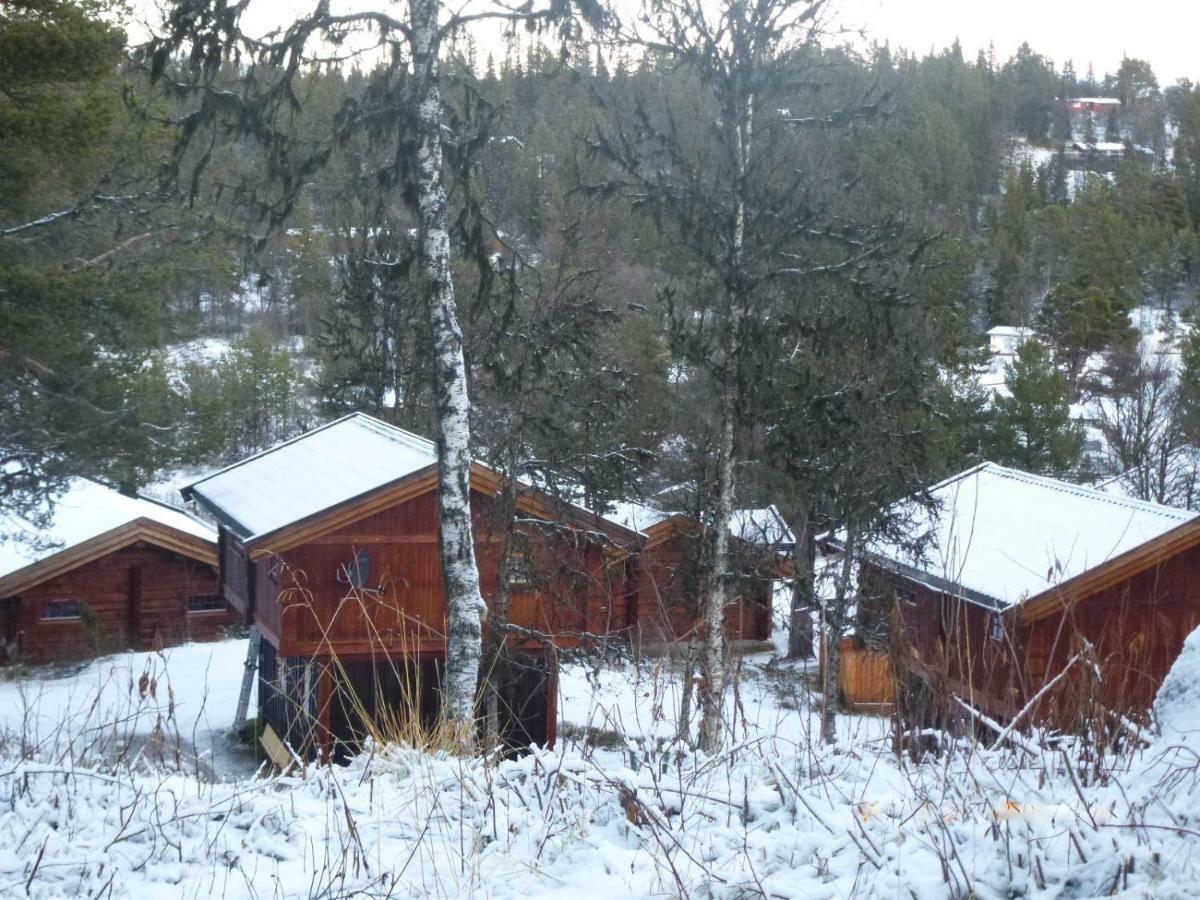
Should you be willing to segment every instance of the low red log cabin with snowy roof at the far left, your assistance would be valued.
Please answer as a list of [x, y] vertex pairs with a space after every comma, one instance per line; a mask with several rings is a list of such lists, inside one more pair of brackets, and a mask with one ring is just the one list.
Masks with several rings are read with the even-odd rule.
[[221, 599], [216, 530], [73, 479], [44, 527], [0, 542], [0, 662], [62, 662], [208, 641], [236, 623]]

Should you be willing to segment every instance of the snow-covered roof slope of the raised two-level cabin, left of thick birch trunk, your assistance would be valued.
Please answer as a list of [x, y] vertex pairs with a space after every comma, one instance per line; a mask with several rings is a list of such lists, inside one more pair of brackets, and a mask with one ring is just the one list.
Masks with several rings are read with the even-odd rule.
[[245, 540], [436, 466], [433, 442], [352, 413], [184, 488]]

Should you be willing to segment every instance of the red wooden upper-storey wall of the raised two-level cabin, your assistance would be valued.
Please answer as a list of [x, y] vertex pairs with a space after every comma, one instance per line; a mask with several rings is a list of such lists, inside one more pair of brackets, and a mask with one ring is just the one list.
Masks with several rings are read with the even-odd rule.
[[[480, 587], [493, 604], [503, 528], [492, 497], [473, 492], [472, 512]], [[222, 558], [236, 557], [223, 576], [226, 594], [240, 608], [253, 594], [254, 620], [282, 656], [442, 653], [446, 604], [437, 522], [431, 492], [248, 565], [224, 536]], [[623, 559], [558, 523], [522, 520], [518, 533], [523, 577], [510, 586], [510, 623], [576, 646], [581, 635], [605, 634], [623, 620]], [[360, 552], [370, 571], [365, 589], [354, 590], [347, 568]]]

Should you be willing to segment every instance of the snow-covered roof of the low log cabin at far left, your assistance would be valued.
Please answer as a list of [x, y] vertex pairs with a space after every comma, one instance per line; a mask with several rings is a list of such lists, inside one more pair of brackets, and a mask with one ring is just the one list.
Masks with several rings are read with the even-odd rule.
[[138, 520], [205, 541], [215, 541], [217, 536], [214, 528], [182, 510], [74, 478], [50, 506], [46, 527], [35, 527], [16, 516], [0, 524], [0, 578]]

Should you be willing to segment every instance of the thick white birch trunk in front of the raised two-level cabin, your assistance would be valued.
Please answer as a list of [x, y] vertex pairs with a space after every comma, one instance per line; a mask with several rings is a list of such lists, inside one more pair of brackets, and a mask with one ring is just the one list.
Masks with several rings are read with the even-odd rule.
[[450, 227], [442, 178], [440, 2], [410, 0], [409, 10], [419, 131], [416, 194], [421, 265], [428, 290], [438, 401], [438, 512], [448, 614], [442, 702], [458, 738], [473, 744], [482, 618], [487, 607], [479, 590], [470, 522], [470, 401], [450, 272]]

